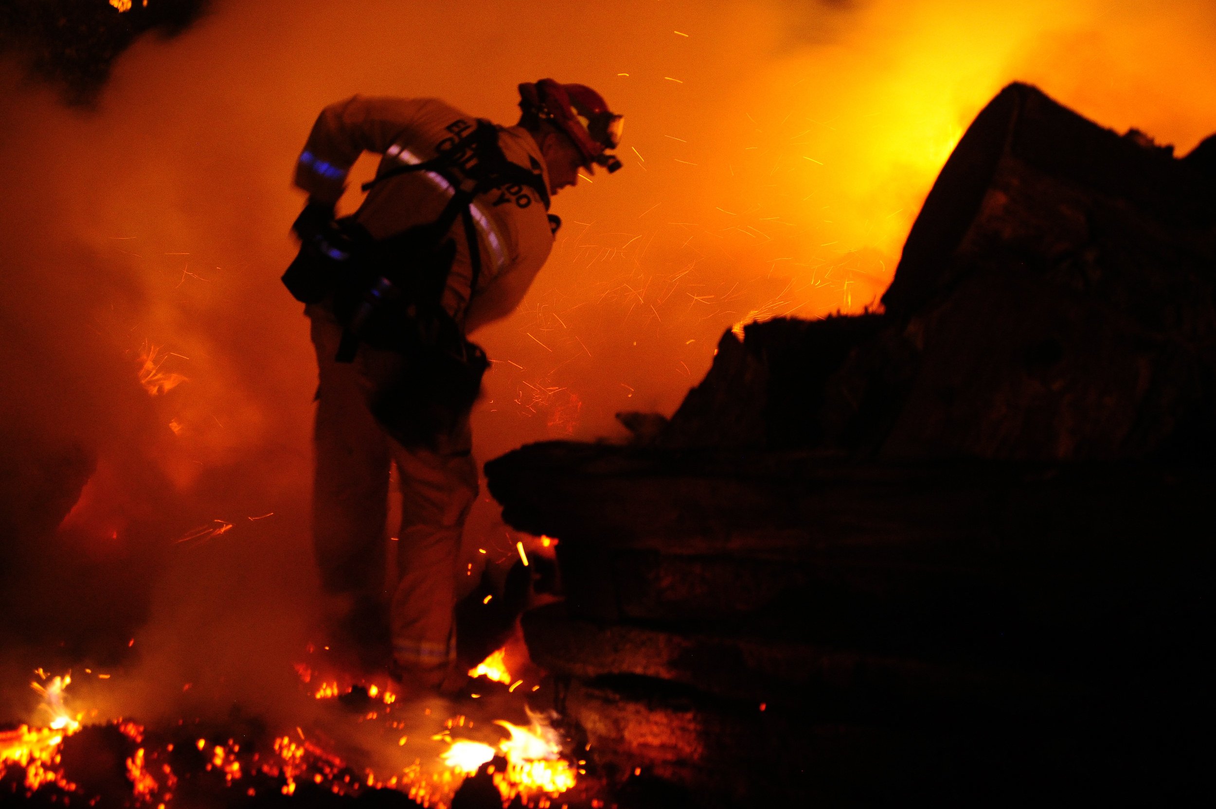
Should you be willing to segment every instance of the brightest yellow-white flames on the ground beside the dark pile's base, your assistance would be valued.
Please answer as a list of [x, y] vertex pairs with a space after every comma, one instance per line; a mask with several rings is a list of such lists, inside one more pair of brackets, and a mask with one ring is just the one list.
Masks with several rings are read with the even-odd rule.
[[[467, 739], [454, 741], [443, 756], [444, 764], [469, 775], [489, 764], [488, 771], [503, 800], [516, 794], [530, 798], [535, 793], [556, 796], [565, 792], [574, 786], [576, 777], [574, 768], [562, 758], [561, 736], [545, 715], [528, 709], [528, 719], [531, 722], [528, 728], [496, 720], [494, 724], [511, 734], [499, 742], [497, 749]], [[506, 759], [506, 770], [495, 771], [491, 762], [496, 756]]]

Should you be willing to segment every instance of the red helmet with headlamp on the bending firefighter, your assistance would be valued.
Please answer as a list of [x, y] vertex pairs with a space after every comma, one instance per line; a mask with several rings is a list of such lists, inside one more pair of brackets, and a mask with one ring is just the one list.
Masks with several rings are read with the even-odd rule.
[[609, 174], [620, 168], [620, 160], [607, 149], [620, 143], [625, 119], [609, 111], [598, 92], [581, 84], [541, 79], [536, 84], [520, 84], [519, 96], [525, 121], [531, 118], [557, 126], [569, 135], [589, 165], [598, 163]]

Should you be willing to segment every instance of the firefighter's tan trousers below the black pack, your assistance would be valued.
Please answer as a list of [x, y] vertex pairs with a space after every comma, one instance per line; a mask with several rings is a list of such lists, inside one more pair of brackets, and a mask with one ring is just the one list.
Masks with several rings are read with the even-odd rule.
[[383, 598], [389, 465], [395, 460], [402, 503], [399, 578], [387, 599], [393, 655], [407, 672], [437, 674], [456, 656], [460, 536], [478, 492], [468, 419], [440, 437], [438, 451], [406, 449], [379, 428], [366, 403], [399, 356], [360, 345], [355, 362], [334, 362], [342, 327], [323, 305], [308, 306], [305, 313], [320, 369], [313, 541], [322, 584], [334, 594]]

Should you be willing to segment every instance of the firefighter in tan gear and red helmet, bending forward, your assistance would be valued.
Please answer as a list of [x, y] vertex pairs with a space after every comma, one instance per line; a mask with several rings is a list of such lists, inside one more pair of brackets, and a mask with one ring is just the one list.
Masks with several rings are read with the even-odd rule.
[[[295, 169], [295, 185], [309, 202], [294, 230], [327, 266], [305, 279], [308, 292], [300, 292], [299, 278], [292, 283], [295, 265], [283, 278], [308, 304], [320, 370], [314, 553], [330, 613], [345, 640], [365, 652], [375, 651], [382, 639], [390, 641], [392, 656], [384, 661], [390, 673], [417, 688], [438, 688], [455, 673], [452, 610], [463, 572], [456, 565], [461, 530], [478, 494], [472, 401], [420, 439], [418, 430], [410, 429], [418, 420], [412, 414], [430, 411], [407, 412], [383, 397], [394, 385], [402, 386], [412, 349], [361, 339], [355, 328], [361, 316], [339, 305], [342, 279], [359, 277], [350, 266], [358, 270], [360, 253], [336, 236], [333, 209], [356, 158], [362, 152], [381, 154], [377, 179], [342, 231], [358, 227], [373, 245], [393, 244], [394, 237], [420, 226], [423, 232], [426, 226], [443, 231], [446, 253], [432, 251], [443, 265], [435, 302], [444, 322], [455, 324], [475, 355], [479, 350], [463, 335], [510, 315], [548, 256], [561, 224], [547, 214], [550, 197], [576, 185], [579, 172], [592, 172], [595, 165], [620, 168], [609, 149], [618, 145], [623, 121], [596, 91], [542, 79], [519, 85], [519, 92], [523, 114], [516, 126], [506, 128], [434, 98], [355, 96], [322, 111]], [[390, 264], [415, 266], [407, 253], [417, 248], [401, 249], [406, 254], [393, 255]], [[381, 302], [383, 285], [392, 283], [379, 282], [376, 289], [365, 284], [356, 290], [355, 309], [366, 310], [359, 301]], [[385, 312], [378, 316], [399, 323], [415, 310], [399, 305]], [[473, 379], [475, 391], [479, 370]], [[415, 379], [404, 386], [427, 390], [432, 381], [439, 384]], [[389, 592], [384, 527], [393, 462], [402, 516], [396, 584]], [[365, 664], [375, 656], [364, 656]]]

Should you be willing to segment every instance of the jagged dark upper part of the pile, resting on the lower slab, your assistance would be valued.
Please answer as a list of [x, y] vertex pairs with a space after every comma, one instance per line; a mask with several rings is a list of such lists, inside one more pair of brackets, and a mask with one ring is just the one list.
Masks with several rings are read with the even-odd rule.
[[1214, 154], [1009, 85], [929, 193], [885, 313], [727, 333], [655, 445], [1211, 457]]

